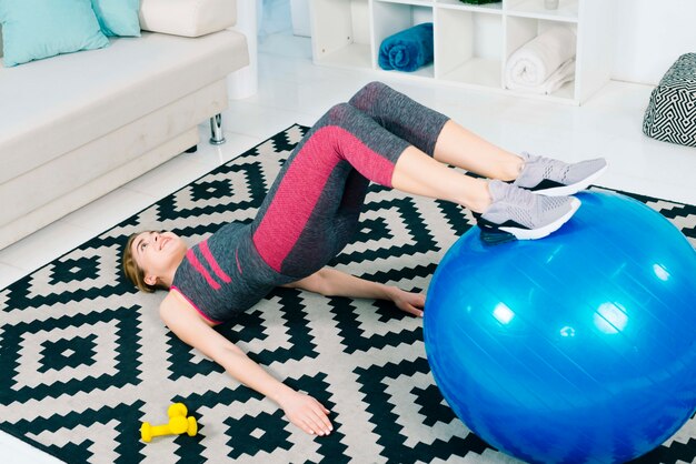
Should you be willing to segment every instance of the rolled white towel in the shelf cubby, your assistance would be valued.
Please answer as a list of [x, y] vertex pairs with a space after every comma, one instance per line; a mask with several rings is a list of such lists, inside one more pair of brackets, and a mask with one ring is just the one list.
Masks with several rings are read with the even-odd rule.
[[[561, 26], [547, 29], [517, 49], [505, 65], [508, 89], [550, 93], [575, 73], [575, 32]], [[546, 83], [546, 84], [545, 84]]]

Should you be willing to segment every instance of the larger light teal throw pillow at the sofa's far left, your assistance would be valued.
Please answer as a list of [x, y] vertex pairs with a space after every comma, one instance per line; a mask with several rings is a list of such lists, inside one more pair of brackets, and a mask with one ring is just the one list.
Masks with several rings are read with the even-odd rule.
[[0, 0], [6, 67], [107, 47], [91, 0]]

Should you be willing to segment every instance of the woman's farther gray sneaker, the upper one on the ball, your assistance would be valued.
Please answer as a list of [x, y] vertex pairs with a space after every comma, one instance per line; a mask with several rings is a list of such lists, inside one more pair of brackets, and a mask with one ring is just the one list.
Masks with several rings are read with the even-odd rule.
[[525, 165], [513, 185], [547, 196], [566, 196], [585, 190], [607, 169], [604, 158], [568, 164], [526, 152], [520, 157]]

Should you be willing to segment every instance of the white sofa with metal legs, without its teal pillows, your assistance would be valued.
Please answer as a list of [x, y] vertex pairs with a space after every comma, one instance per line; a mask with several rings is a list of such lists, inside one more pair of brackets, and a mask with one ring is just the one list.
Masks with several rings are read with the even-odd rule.
[[0, 68], [0, 249], [197, 145], [209, 119], [223, 141], [226, 77], [249, 63], [236, 8], [141, 0], [140, 38]]

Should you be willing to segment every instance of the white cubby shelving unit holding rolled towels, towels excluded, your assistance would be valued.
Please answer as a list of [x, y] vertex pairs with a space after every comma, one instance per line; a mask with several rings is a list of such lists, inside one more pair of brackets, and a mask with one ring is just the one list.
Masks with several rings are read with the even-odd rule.
[[[612, 8], [607, 0], [560, 0], [557, 10], [545, 9], [544, 0], [480, 6], [459, 0], [311, 0], [314, 61], [581, 104], [609, 80]], [[377, 58], [382, 40], [422, 22], [434, 24], [434, 62], [415, 72], [381, 70]], [[506, 89], [507, 59], [558, 24], [577, 34], [575, 80], [550, 95]]]

